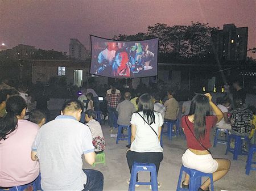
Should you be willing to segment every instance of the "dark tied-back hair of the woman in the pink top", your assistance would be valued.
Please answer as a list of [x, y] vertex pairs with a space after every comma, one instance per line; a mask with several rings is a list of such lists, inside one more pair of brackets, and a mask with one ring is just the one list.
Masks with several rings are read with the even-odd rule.
[[6, 116], [0, 118], [0, 140], [7, 139], [18, 125], [18, 118], [23, 109], [27, 107], [26, 101], [20, 96], [11, 96], [6, 101]]

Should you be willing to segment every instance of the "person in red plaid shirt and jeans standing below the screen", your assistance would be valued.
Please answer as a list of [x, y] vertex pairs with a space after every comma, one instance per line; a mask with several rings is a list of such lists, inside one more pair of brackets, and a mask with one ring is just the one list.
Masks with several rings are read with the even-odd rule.
[[106, 92], [106, 101], [108, 101], [108, 117], [110, 130], [114, 128], [114, 117], [117, 118], [117, 104], [121, 98], [121, 93], [117, 90], [116, 85], [112, 84], [111, 88]]

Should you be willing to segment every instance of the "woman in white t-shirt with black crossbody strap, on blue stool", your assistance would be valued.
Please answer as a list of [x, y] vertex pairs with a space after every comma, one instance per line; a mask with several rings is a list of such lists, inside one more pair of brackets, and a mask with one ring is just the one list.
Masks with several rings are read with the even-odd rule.
[[[163, 118], [160, 113], [154, 112], [154, 99], [151, 95], [143, 94], [139, 97], [138, 112], [133, 113], [130, 122], [131, 148], [126, 153], [130, 172], [133, 163], [138, 162], [154, 163], [158, 173], [163, 160], [163, 148], [160, 146]], [[160, 186], [158, 182], [158, 188]]]

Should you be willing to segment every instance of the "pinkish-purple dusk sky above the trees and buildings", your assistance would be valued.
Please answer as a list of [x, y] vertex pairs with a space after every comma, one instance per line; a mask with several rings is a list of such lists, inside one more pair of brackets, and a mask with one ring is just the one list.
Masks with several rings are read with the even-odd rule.
[[[248, 48], [256, 46], [256, 1], [3, 1], [0, 42], [68, 52], [69, 39], [90, 48], [89, 35], [112, 38], [146, 32], [148, 26], [234, 23], [249, 27]], [[249, 54], [252, 56], [253, 54]], [[255, 53], [254, 53], [254, 58]]]

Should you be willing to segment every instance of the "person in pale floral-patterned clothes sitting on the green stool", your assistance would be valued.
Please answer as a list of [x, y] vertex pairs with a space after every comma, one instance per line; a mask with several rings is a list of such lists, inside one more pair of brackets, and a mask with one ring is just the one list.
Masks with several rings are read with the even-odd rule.
[[101, 124], [96, 121], [97, 115], [93, 109], [88, 109], [85, 111], [85, 125], [89, 126], [90, 131], [92, 132], [92, 143], [94, 146], [94, 152], [104, 151], [105, 149], [105, 140], [101, 129]]

